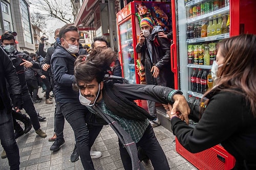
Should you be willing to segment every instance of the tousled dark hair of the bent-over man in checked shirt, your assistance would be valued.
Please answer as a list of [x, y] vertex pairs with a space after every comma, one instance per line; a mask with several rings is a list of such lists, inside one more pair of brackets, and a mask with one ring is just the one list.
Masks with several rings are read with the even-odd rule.
[[117, 54], [111, 49], [93, 49], [88, 57], [79, 56], [75, 61], [74, 75], [76, 84], [79, 81], [90, 83], [96, 78], [97, 82], [103, 81], [108, 75], [110, 65], [117, 58]]

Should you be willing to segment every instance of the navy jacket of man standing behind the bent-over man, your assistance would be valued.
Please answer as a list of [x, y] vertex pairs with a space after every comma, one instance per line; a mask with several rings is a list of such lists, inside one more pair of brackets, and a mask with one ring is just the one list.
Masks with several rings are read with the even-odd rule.
[[72, 88], [75, 82], [75, 55], [71, 55], [65, 48], [58, 45], [52, 55], [51, 67], [53, 71], [56, 101], [59, 103], [79, 103], [79, 93]]

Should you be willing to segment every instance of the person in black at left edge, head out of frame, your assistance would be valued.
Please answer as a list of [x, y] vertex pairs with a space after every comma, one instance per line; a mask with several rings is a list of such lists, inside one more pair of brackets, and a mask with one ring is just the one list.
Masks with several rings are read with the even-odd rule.
[[[12, 101], [7, 89], [7, 83], [13, 95]], [[10, 169], [19, 169], [19, 150], [14, 138], [12, 122], [12, 107], [22, 109], [22, 87], [12, 61], [0, 47], [0, 140], [6, 152]]]

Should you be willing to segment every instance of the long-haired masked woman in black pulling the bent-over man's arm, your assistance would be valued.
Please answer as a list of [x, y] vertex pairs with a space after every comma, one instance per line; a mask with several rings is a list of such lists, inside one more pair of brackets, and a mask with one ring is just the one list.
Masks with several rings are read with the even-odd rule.
[[[195, 127], [186, 125], [172, 106], [166, 107], [172, 130], [191, 153], [221, 145], [236, 158], [233, 169], [256, 169], [256, 35], [242, 34], [217, 45], [215, 86], [203, 96], [206, 108], [190, 104]], [[214, 69], [216, 68], [216, 69]]]

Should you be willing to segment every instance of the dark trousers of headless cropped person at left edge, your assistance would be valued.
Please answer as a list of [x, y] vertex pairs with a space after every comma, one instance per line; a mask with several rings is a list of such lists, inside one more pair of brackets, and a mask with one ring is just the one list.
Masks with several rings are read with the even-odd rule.
[[4, 108], [0, 110], [0, 140], [6, 152], [10, 169], [19, 169], [19, 151], [14, 138], [14, 129], [11, 112]]

